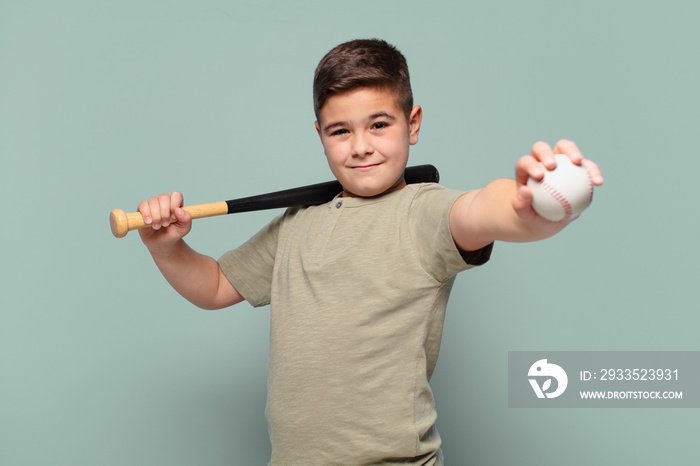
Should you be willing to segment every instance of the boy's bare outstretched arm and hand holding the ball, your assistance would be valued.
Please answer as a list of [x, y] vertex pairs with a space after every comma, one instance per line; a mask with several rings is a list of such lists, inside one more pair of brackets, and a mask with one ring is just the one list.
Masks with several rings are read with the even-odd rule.
[[554, 149], [544, 142], [532, 147], [530, 155], [518, 160], [515, 179], [492, 181], [484, 188], [470, 191], [455, 202], [450, 211], [450, 231], [463, 251], [475, 251], [495, 240], [536, 241], [561, 231], [571, 220], [551, 222], [532, 209], [532, 191], [527, 187], [529, 177], [541, 180], [544, 170], [556, 167], [554, 154], [566, 154], [577, 165], [584, 165], [594, 185], [603, 184], [598, 166], [581, 155], [576, 144], [562, 140]]

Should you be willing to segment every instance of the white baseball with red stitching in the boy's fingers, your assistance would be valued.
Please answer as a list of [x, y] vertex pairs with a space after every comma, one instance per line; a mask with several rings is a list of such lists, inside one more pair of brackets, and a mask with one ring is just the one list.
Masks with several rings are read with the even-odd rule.
[[[574, 165], [564, 154], [555, 154], [557, 166], [545, 169], [542, 181], [527, 180], [532, 190], [532, 208], [552, 222], [576, 218], [593, 199], [593, 183], [588, 170]], [[544, 166], [543, 166], [544, 168]]]

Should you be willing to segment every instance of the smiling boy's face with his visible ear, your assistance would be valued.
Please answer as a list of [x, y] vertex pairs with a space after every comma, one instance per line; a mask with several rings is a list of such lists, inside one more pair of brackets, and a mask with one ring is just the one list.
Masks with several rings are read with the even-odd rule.
[[370, 197], [406, 186], [408, 148], [418, 142], [422, 111], [408, 121], [393, 91], [359, 88], [329, 97], [316, 131], [344, 196]]

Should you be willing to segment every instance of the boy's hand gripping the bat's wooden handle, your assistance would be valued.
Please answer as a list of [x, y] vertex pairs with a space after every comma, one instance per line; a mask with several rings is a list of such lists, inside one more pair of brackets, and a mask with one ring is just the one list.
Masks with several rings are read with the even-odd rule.
[[138, 211], [150, 228], [141, 228], [141, 241], [151, 252], [166, 252], [190, 232], [192, 215], [182, 209], [184, 199], [175, 191], [139, 203]]

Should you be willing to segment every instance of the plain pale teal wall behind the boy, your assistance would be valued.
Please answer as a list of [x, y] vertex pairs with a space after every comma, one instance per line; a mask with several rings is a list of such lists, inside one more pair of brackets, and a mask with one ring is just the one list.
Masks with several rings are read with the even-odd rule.
[[[450, 465], [697, 464], [700, 411], [509, 409], [513, 350], [700, 350], [697, 2], [0, 0], [0, 464], [262, 465], [269, 317], [177, 296], [113, 208], [329, 179], [311, 79], [382, 37], [424, 108], [412, 164], [512, 176], [576, 141], [605, 186], [462, 274], [433, 378]], [[198, 221], [218, 257], [274, 212]]]

